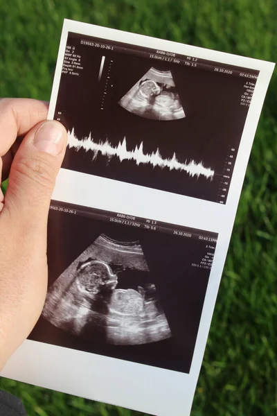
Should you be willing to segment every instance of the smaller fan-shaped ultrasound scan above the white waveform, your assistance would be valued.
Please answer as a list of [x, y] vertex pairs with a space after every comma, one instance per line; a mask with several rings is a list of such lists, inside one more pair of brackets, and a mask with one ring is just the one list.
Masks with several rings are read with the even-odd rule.
[[168, 121], [185, 117], [171, 71], [159, 71], [153, 67], [118, 104], [146, 119]]

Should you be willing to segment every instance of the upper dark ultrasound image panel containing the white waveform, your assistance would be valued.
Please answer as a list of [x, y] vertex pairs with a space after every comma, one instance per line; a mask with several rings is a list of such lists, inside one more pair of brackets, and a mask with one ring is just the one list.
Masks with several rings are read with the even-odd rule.
[[63, 168], [225, 204], [259, 71], [69, 33]]

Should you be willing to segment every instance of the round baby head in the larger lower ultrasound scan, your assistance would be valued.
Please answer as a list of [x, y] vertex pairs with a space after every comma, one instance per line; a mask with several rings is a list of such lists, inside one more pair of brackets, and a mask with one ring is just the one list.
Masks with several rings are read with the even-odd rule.
[[89, 259], [78, 265], [76, 284], [82, 292], [100, 295], [113, 291], [117, 283], [117, 276], [105, 261]]

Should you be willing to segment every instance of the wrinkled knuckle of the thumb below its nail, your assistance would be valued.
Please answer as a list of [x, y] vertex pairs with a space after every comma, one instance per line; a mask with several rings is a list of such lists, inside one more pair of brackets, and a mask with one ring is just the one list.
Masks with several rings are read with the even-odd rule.
[[22, 157], [17, 171], [32, 180], [39, 187], [53, 189], [55, 178], [51, 162], [42, 157]]

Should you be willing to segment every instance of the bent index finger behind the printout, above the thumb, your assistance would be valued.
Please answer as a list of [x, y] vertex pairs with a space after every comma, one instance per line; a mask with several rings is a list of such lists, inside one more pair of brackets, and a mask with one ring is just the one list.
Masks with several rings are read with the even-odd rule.
[[18, 136], [24, 136], [40, 121], [46, 120], [48, 103], [33, 98], [0, 99], [0, 157]]

